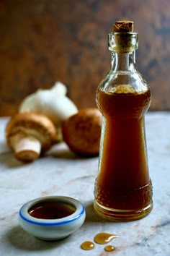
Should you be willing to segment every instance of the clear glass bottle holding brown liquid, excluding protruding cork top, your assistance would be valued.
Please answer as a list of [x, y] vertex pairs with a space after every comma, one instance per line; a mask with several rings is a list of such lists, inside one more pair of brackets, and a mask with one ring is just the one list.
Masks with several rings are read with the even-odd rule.
[[144, 115], [151, 91], [135, 68], [138, 33], [109, 33], [111, 69], [97, 88], [102, 112], [94, 209], [111, 220], [132, 221], [152, 209]]

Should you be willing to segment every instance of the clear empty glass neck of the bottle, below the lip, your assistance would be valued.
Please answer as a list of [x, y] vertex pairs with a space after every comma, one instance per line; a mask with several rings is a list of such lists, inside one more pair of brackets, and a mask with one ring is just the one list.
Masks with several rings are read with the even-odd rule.
[[128, 53], [117, 53], [112, 51], [111, 69], [114, 72], [133, 72], [135, 70], [135, 51]]

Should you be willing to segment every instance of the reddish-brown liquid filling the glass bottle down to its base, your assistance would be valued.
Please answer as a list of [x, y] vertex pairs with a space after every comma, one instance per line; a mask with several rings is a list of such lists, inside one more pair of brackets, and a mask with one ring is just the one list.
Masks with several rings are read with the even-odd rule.
[[121, 93], [128, 86], [120, 85], [119, 93], [97, 91], [104, 125], [94, 208], [105, 218], [121, 221], [142, 218], [152, 208], [143, 117], [151, 93]]

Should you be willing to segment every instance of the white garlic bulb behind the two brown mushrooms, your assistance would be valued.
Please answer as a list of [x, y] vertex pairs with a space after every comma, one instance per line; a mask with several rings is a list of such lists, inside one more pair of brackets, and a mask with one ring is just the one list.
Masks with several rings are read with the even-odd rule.
[[78, 112], [78, 108], [66, 96], [66, 93], [66, 85], [63, 85], [62, 82], [55, 82], [55, 85], [49, 90], [38, 89], [24, 98], [19, 106], [19, 113], [35, 112], [48, 116], [57, 128], [57, 140], [62, 140], [61, 124]]

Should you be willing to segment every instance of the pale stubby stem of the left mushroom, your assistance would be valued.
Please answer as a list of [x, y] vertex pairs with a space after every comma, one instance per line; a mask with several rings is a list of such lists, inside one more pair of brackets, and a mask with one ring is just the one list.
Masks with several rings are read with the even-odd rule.
[[15, 157], [23, 162], [34, 161], [39, 158], [41, 143], [31, 135], [14, 135], [12, 138]]

